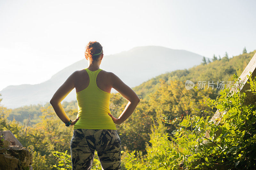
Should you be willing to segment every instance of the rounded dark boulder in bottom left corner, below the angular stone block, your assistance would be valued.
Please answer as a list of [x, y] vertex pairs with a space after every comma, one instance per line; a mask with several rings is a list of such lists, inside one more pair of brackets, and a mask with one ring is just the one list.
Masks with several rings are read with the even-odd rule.
[[1, 169], [26, 169], [32, 164], [32, 154], [22, 146], [0, 148]]

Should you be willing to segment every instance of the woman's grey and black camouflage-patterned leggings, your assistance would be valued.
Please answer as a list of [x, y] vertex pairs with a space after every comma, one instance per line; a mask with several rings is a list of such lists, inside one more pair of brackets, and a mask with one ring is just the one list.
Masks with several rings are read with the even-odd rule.
[[121, 169], [121, 140], [116, 130], [74, 129], [70, 149], [73, 170], [90, 170], [95, 150], [103, 170]]

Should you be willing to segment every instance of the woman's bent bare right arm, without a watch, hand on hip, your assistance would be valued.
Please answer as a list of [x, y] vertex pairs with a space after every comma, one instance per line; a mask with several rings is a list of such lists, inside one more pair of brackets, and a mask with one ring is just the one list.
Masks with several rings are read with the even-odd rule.
[[111, 82], [112, 87], [116, 89], [125, 99], [129, 102], [127, 103], [126, 107], [124, 108], [123, 113], [118, 117], [115, 118], [110, 113], [108, 114], [114, 123], [121, 124], [123, 123], [128, 117], [132, 115], [135, 108], [140, 102], [140, 98], [138, 95], [128, 86], [126, 85], [119, 77], [117, 77], [114, 73], [111, 73]]

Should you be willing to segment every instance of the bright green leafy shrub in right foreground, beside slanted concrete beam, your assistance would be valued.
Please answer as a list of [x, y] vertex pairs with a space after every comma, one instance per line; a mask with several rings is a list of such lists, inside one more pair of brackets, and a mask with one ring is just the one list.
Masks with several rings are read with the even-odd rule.
[[[179, 127], [168, 134], [150, 140], [152, 147], [147, 157], [138, 160], [128, 153], [126, 168], [130, 169], [254, 169], [256, 166], [256, 112], [255, 105], [245, 105], [245, 93], [223, 89], [216, 100], [204, 98], [203, 104], [217, 108], [221, 113], [216, 120], [188, 115], [182, 120], [171, 120], [163, 114], [162, 121]], [[252, 93], [256, 94], [256, 80], [250, 76]], [[202, 112], [199, 109], [194, 108]], [[180, 122], [177, 122], [180, 120]], [[182, 120], [182, 121], [181, 121]], [[177, 123], [176, 123], [177, 122]], [[220, 134], [220, 135], [219, 135]], [[174, 143], [173, 143], [174, 142]]]

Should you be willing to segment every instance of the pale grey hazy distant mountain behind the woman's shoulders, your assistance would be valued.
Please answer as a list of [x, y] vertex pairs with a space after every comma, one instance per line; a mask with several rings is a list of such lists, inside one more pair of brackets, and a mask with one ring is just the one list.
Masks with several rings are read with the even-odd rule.
[[[100, 68], [115, 73], [125, 84], [135, 87], [157, 75], [198, 65], [202, 58], [203, 56], [186, 50], [143, 46], [104, 56]], [[43, 83], [7, 86], [0, 92], [1, 98], [3, 98], [1, 104], [8, 108], [16, 108], [49, 102], [71, 73], [87, 67], [87, 60], [84, 58], [60, 70]], [[112, 89], [111, 92], [116, 91]], [[71, 100], [76, 100], [75, 89], [63, 101]]]

